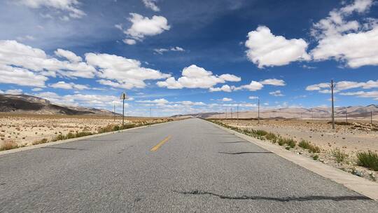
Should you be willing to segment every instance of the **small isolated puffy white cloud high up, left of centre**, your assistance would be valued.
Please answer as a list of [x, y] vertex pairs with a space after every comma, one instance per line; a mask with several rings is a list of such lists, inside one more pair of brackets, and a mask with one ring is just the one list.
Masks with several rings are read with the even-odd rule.
[[124, 33], [134, 40], [143, 40], [145, 36], [155, 36], [169, 30], [167, 18], [159, 15], [153, 15], [152, 18], [144, 17], [137, 13], [130, 13], [129, 18], [132, 25]]

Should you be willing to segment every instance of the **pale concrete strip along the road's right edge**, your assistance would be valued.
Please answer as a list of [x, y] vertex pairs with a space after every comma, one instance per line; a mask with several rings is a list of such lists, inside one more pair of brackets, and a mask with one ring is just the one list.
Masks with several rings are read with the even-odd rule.
[[[209, 122], [212, 123], [212, 122]], [[304, 167], [311, 172], [315, 172], [316, 174], [321, 175], [327, 179], [337, 182], [338, 184], [342, 184], [346, 188], [349, 188], [353, 191], [356, 191], [362, 195], [365, 195], [368, 198], [373, 200], [378, 200], [378, 184], [372, 181], [368, 181], [367, 179], [363, 179], [362, 177], [358, 177], [356, 175], [350, 174], [348, 172], [344, 172], [339, 170], [335, 167], [331, 167], [329, 165], [325, 165], [321, 162], [316, 160], [311, 160], [310, 158], [306, 158], [304, 156], [297, 155], [292, 151], [288, 151], [286, 149], [282, 149], [280, 146], [276, 146], [269, 142], [263, 142], [254, 137], [250, 137], [248, 135], [241, 134], [234, 130], [230, 130], [228, 128], [224, 128], [221, 125], [217, 125], [216, 123], [212, 123], [216, 125], [216, 127], [226, 130], [237, 137], [242, 139], [246, 139], [248, 142], [256, 144], [263, 149], [267, 149], [268, 151], [272, 151], [277, 156], [285, 158], [286, 160], [290, 160], [291, 162]]]

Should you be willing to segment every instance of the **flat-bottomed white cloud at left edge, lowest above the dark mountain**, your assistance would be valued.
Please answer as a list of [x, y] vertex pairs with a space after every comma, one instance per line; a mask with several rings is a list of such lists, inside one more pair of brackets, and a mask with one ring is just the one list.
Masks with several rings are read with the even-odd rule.
[[39, 88], [44, 88], [45, 81], [48, 80], [45, 76], [36, 74], [27, 69], [2, 65], [1, 62], [0, 76], [0, 83], [34, 86]]

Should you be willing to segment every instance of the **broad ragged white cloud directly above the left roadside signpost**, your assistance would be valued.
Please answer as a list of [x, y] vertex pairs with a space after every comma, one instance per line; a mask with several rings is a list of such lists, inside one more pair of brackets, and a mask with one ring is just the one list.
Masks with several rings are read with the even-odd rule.
[[138, 60], [118, 55], [87, 53], [85, 60], [99, 69], [99, 77], [112, 80], [100, 80], [99, 83], [118, 88], [144, 88], [146, 80], [157, 80], [170, 76], [155, 69], [141, 67], [141, 62]]

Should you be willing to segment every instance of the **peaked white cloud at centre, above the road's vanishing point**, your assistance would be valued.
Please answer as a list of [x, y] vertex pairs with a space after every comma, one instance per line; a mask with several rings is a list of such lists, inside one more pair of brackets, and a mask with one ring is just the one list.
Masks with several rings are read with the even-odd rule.
[[[202, 67], [197, 67], [195, 64], [185, 67], [182, 71], [182, 76], [177, 80], [174, 77], [167, 78], [166, 81], [158, 81], [156, 83], [159, 87], [166, 87], [169, 89], [181, 88], [213, 88], [218, 83], [225, 83], [225, 81], [238, 81], [240, 78], [231, 74], [224, 74], [221, 76], [214, 76], [211, 71], [207, 71]], [[240, 80], [239, 80], [240, 81]]]

